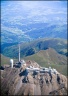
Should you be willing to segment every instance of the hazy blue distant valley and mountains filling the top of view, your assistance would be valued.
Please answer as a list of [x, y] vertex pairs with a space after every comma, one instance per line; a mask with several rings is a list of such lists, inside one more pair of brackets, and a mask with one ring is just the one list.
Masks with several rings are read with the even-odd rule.
[[1, 42], [67, 39], [67, 8], [66, 3], [64, 7], [63, 4], [46, 1], [1, 2]]

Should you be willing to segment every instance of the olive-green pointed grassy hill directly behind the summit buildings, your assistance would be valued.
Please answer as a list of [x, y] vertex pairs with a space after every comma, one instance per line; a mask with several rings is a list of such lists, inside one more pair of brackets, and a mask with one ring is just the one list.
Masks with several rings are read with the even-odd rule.
[[56, 68], [60, 73], [67, 75], [67, 58], [58, 54], [54, 49], [41, 50], [40, 52], [25, 57], [25, 60], [34, 60], [42, 67]]

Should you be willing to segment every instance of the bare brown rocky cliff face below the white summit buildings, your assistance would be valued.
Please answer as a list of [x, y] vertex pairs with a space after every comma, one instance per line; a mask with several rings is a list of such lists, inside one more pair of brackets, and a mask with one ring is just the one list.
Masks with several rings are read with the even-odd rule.
[[67, 95], [67, 78], [60, 73], [28, 73], [15, 67], [0, 71], [2, 95]]

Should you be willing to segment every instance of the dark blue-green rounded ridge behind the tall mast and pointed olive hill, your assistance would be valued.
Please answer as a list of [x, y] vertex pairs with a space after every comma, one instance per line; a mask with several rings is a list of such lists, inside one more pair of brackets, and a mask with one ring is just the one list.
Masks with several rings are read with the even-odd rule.
[[[65, 39], [38, 39], [29, 43], [21, 43], [21, 57], [33, 55], [40, 50], [51, 47], [58, 53], [67, 55], [67, 41]], [[18, 58], [18, 45], [3, 48], [2, 54], [12, 58]]]

